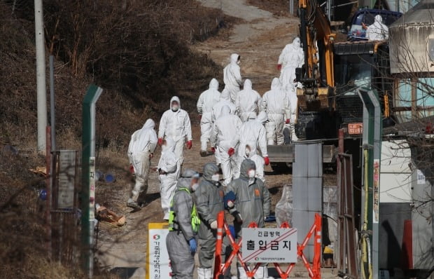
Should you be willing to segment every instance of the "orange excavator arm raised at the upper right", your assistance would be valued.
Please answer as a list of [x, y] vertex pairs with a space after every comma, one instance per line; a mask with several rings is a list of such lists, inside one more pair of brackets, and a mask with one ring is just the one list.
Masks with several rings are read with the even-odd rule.
[[302, 109], [332, 109], [335, 34], [316, 0], [300, 0], [300, 39], [304, 50], [304, 66], [296, 70], [296, 76], [304, 88], [297, 90], [299, 104]]

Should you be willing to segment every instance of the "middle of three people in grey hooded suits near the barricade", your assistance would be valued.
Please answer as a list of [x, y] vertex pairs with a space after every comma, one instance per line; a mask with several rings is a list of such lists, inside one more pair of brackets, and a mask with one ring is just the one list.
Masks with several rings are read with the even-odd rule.
[[201, 221], [198, 233], [201, 248], [197, 273], [200, 279], [211, 279], [211, 268], [216, 252], [216, 229], [212, 229], [211, 224], [216, 222], [218, 212], [225, 210], [223, 204], [224, 190], [220, 182], [212, 179], [213, 175], [218, 173], [218, 167], [215, 163], [204, 165], [203, 172], [202, 181], [194, 193], [197, 213]]

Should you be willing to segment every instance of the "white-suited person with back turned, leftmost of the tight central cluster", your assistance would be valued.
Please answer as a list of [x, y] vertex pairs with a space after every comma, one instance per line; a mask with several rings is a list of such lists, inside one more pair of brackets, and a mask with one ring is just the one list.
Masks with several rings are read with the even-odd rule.
[[205, 90], [197, 100], [197, 112], [200, 114], [200, 156], [207, 156], [207, 145], [213, 128], [212, 110], [214, 104], [220, 101], [218, 81], [211, 79], [209, 89]]

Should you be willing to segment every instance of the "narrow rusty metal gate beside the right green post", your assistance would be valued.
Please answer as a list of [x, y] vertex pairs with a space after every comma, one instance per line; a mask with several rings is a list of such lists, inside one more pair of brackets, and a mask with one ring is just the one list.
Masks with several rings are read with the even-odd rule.
[[337, 154], [337, 269], [350, 278], [358, 278], [356, 226], [353, 206], [353, 159]]

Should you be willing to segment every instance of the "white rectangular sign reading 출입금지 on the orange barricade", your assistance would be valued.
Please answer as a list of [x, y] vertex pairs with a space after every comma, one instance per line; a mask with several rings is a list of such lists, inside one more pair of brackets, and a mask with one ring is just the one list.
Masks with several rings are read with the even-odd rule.
[[297, 262], [297, 229], [242, 229], [243, 261], [255, 263]]

